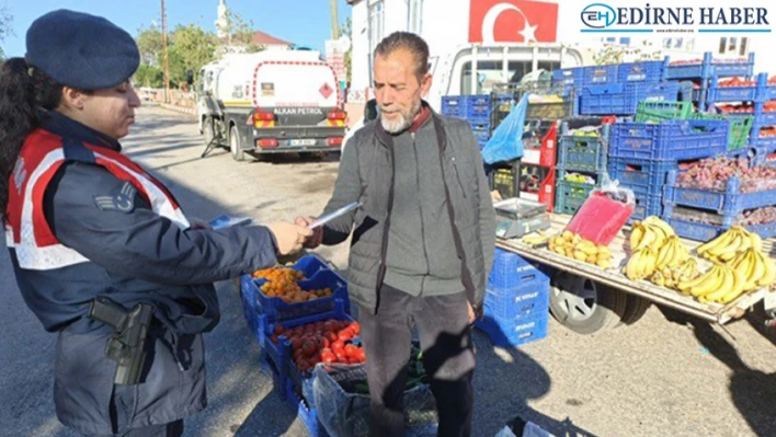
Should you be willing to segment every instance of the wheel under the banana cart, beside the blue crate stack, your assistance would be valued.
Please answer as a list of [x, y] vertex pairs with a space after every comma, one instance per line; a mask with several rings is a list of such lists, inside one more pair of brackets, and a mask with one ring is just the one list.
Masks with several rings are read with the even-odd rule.
[[550, 312], [558, 322], [579, 334], [614, 327], [625, 313], [626, 296], [620, 291], [559, 272], [552, 277]]

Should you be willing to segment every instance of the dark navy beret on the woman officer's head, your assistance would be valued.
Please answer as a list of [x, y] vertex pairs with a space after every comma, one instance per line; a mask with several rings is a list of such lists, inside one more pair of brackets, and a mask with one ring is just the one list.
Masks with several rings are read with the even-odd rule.
[[140, 54], [132, 35], [110, 21], [60, 9], [30, 26], [26, 60], [57, 83], [100, 90], [128, 80]]

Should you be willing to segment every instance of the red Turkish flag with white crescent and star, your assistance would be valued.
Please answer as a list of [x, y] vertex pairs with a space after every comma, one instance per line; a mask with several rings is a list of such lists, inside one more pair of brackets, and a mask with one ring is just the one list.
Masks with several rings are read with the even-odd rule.
[[470, 0], [469, 43], [555, 43], [558, 3]]

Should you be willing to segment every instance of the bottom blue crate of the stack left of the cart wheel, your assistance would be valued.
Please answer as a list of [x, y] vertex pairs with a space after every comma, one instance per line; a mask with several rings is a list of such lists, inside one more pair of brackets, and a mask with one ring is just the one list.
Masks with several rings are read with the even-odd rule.
[[527, 319], [505, 320], [484, 313], [482, 320], [475, 321], [475, 326], [482, 330], [491, 343], [500, 347], [515, 347], [547, 337], [549, 312]]

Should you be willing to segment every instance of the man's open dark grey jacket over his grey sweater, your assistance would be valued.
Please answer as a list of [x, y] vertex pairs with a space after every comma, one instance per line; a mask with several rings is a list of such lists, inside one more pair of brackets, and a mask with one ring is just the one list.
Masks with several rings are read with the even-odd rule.
[[[460, 260], [460, 283], [469, 302], [479, 308], [484, 297], [486, 280], [493, 263], [495, 212], [477, 139], [461, 119], [432, 112], [442, 169], [446, 214], [452, 226], [453, 253], [429, 253], [434, 257]], [[323, 244], [339, 244], [353, 231], [349, 258], [350, 297], [377, 312], [379, 288], [386, 276], [391, 210], [395, 200], [395, 136], [379, 119], [357, 130], [343, 150], [334, 194], [324, 214], [361, 202], [362, 206], [324, 226]], [[420, 171], [420, 169], [419, 169]], [[422, 200], [422, 198], [421, 198]], [[420, 237], [419, 237], [420, 238]], [[448, 292], [460, 292], [452, 288]], [[435, 292], [441, 294], [441, 292]]]

